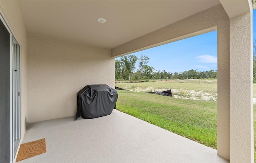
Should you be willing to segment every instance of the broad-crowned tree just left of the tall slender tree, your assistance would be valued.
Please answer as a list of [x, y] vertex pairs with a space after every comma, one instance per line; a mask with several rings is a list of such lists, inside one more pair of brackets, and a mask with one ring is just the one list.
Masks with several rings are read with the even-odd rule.
[[120, 61], [125, 65], [126, 71], [129, 73], [129, 81], [131, 78], [131, 74], [133, 73], [135, 68], [135, 63], [138, 58], [135, 55], [122, 56]]

